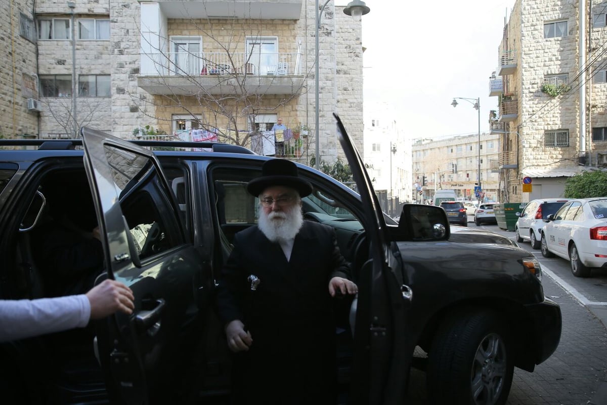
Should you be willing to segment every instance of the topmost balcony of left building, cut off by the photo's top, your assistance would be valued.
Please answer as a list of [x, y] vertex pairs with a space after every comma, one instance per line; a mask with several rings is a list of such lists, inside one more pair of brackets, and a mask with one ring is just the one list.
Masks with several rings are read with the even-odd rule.
[[299, 19], [303, 0], [189, 0], [161, 1], [167, 18]]

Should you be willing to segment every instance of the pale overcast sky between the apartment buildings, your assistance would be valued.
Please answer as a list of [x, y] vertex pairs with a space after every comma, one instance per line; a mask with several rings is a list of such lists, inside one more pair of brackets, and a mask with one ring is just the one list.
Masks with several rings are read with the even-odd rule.
[[[321, 2], [322, 3], [322, 2]], [[395, 103], [410, 138], [478, 131], [472, 104], [481, 98], [481, 131], [489, 131], [489, 77], [497, 69], [504, 22], [515, 0], [365, 0], [362, 17], [364, 101]], [[336, 0], [347, 5], [348, 0]]]

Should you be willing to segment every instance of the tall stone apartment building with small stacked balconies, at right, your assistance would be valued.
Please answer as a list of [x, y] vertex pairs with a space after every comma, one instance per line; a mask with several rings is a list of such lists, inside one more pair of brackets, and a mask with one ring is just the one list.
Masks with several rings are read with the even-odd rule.
[[515, 3], [489, 83], [500, 200], [560, 197], [568, 177], [607, 165], [606, 15], [607, 1]]

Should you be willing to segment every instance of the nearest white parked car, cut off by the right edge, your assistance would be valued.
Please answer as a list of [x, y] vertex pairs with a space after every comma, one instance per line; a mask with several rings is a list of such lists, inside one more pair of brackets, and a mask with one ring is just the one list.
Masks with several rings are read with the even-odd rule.
[[571, 200], [550, 214], [541, 233], [541, 254], [569, 260], [576, 277], [607, 267], [607, 197]]

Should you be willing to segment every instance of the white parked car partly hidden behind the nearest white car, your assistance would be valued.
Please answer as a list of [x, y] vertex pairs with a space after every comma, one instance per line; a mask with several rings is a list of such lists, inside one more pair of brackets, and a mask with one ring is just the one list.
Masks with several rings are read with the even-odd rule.
[[517, 234], [517, 242], [529, 240], [531, 247], [539, 249], [541, 247], [541, 230], [544, 228], [544, 220], [558, 211], [563, 204], [571, 199], [537, 199], [531, 200], [514, 225]]

